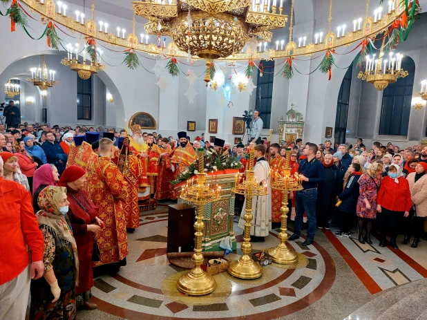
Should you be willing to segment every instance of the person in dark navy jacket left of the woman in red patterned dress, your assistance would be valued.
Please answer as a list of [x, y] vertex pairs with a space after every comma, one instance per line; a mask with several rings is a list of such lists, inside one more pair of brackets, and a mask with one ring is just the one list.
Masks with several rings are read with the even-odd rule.
[[[350, 164], [348, 172], [350, 176], [348, 177], [347, 185], [338, 196], [341, 204], [336, 209], [336, 215], [339, 217], [341, 230], [335, 233], [336, 236], [350, 236], [352, 220], [356, 216], [357, 199], [359, 199], [359, 178], [362, 175], [361, 165], [358, 163]], [[367, 236], [367, 238], [370, 241], [370, 237]]]

